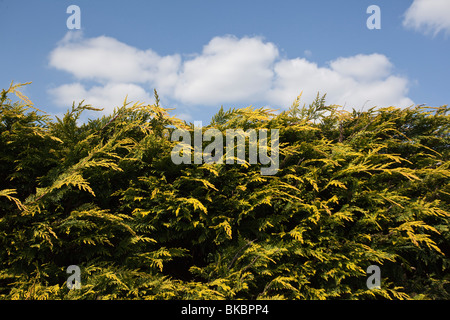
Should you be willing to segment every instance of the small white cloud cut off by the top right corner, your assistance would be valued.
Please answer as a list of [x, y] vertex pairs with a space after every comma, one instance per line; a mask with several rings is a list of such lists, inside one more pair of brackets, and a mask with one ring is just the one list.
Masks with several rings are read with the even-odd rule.
[[425, 34], [450, 34], [450, 1], [414, 0], [405, 12], [403, 26]]

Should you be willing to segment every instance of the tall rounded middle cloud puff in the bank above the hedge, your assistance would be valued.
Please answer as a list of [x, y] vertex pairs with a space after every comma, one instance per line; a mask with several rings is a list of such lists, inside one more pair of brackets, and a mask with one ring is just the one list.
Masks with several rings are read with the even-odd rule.
[[217, 104], [258, 100], [270, 89], [278, 49], [259, 38], [216, 37], [185, 61], [175, 98]]

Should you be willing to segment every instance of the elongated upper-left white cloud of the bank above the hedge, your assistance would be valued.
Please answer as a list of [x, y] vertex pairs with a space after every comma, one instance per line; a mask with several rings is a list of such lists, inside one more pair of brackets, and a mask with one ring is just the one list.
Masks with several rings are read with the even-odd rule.
[[153, 82], [164, 91], [174, 85], [180, 61], [179, 55], [160, 57], [151, 49], [139, 50], [111, 37], [84, 39], [80, 33], [68, 33], [50, 53], [49, 64], [77, 79]]

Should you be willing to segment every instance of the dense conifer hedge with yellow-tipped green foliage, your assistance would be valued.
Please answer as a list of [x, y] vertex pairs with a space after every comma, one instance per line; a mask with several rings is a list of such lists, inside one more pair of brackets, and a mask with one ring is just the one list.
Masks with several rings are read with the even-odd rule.
[[0, 96], [3, 299], [450, 298], [447, 106], [221, 108], [204, 130], [280, 130], [280, 169], [261, 176], [173, 164], [171, 131], [193, 125], [156, 92], [80, 125], [96, 109], [52, 121], [20, 86]]

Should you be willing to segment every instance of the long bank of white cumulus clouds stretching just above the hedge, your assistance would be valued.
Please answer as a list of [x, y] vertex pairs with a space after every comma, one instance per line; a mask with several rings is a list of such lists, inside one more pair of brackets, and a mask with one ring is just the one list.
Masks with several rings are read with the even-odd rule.
[[160, 56], [111, 37], [86, 39], [74, 33], [58, 43], [49, 64], [76, 78], [51, 89], [56, 103], [67, 107], [85, 99], [107, 112], [126, 95], [150, 102], [153, 88], [163, 99], [184, 106], [283, 108], [300, 92], [306, 103], [320, 92], [327, 93], [329, 103], [348, 109], [413, 104], [407, 97], [408, 79], [395, 75], [382, 54], [338, 57], [319, 66], [305, 58], [281, 58], [273, 43], [259, 37], [215, 37], [200, 53], [182, 58]]

